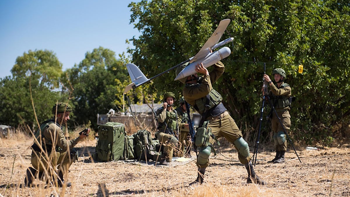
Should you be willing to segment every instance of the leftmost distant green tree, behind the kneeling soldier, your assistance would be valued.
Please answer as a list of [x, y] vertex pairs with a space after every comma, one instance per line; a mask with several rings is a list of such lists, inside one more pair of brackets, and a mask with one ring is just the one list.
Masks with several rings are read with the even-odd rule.
[[58, 87], [62, 63], [51, 51], [29, 50], [17, 57], [11, 72], [13, 76], [0, 83], [1, 123], [34, 128], [37, 121], [33, 104], [39, 123], [52, 116], [52, 106], [59, 99], [52, 89]]

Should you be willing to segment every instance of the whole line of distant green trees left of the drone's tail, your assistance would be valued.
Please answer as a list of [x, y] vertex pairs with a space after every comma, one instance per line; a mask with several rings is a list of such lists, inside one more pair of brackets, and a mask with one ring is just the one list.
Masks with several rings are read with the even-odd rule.
[[106, 114], [110, 108], [121, 110], [125, 104], [123, 91], [130, 83], [125, 64], [129, 57], [124, 53], [119, 57], [117, 60], [109, 49], [95, 48], [78, 65], [62, 72], [62, 63], [53, 52], [29, 50], [17, 57], [11, 70], [13, 77], [0, 81], [0, 123], [34, 128], [35, 114], [38, 122], [43, 122], [52, 116], [52, 106], [59, 101], [72, 105], [71, 125], [91, 121], [96, 126], [98, 113]]

